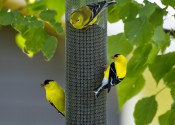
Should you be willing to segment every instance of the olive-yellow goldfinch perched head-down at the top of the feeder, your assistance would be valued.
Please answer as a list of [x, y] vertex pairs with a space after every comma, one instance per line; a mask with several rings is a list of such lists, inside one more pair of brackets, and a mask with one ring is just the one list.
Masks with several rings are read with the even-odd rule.
[[70, 23], [76, 29], [83, 29], [93, 25], [97, 16], [109, 5], [116, 4], [115, 1], [102, 1], [92, 3], [75, 10], [70, 16]]

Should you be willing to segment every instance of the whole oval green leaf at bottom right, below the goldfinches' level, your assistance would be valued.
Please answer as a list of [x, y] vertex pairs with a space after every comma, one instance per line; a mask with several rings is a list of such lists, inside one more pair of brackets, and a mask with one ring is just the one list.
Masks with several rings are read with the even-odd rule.
[[155, 96], [143, 98], [137, 102], [134, 111], [136, 125], [149, 124], [157, 112], [157, 102]]

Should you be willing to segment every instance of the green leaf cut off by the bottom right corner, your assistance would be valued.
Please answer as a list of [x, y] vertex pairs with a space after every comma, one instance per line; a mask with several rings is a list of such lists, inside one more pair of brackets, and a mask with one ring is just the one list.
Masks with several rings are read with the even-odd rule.
[[159, 117], [160, 125], [175, 125], [175, 110], [171, 109]]

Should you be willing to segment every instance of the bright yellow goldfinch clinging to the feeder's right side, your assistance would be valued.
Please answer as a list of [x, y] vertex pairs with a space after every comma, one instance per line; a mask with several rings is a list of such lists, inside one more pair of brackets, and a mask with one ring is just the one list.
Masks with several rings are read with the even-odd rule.
[[103, 89], [110, 91], [112, 86], [120, 83], [126, 76], [127, 62], [123, 55], [115, 54], [112, 62], [105, 70], [101, 85], [95, 89], [95, 96], [98, 97]]

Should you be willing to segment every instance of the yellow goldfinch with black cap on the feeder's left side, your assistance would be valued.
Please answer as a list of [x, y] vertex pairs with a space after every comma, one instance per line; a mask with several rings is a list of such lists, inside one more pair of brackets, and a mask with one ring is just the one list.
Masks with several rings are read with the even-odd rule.
[[55, 109], [65, 116], [65, 93], [60, 85], [54, 80], [45, 80], [41, 87], [46, 90], [47, 101], [55, 107]]

